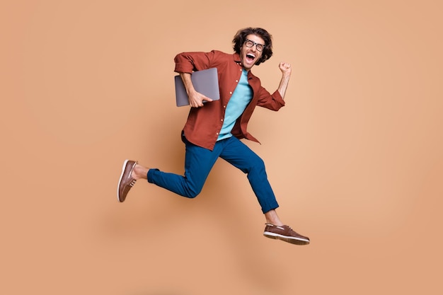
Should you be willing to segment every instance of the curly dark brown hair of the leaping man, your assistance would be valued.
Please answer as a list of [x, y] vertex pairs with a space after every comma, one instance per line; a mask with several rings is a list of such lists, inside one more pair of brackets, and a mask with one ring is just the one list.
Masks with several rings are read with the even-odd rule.
[[272, 35], [270, 35], [270, 33], [267, 33], [267, 30], [263, 28], [249, 27], [238, 30], [238, 32], [234, 36], [234, 40], [232, 40], [232, 42], [234, 43], [234, 52], [240, 54], [241, 47], [245, 43], [246, 37], [248, 35], [257, 35], [258, 37], [262, 38], [263, 41], [265, 41], [265, 49], [263, 49], [262, 56], [255, 63], [255, 65], [258, 66], [262, 62], [265, 62], [267, 61], [267, 59], [270, 59], [270, 57], [272, 57]]

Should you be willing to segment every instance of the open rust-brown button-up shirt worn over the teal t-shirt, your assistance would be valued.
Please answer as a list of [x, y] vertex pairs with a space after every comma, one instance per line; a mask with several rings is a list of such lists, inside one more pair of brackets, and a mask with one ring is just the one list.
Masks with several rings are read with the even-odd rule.
[[[186, 139], [205, 149], [214, 149], [215, 142], [223, 126], [224, 113], [229, 99], [240, 81], [241, 66], [240, 56], [236, 53], [227, 54], [221, 51], [211, 52], [183, 52], [175, 57], [178, 73], [192, 73], [202, 69], [217, 68], [219, 75], [220, 100], [205, 103], [201, 108], [191, 108], [183, 132]], [[284, 100], [278, 91], [267, 92], [261, 86], [260, 79], [248, 72], [248, 83], [253, 89], [253, 98], [240, 117], [238, 117], [232, 134], [238, 139], [249, 139], [259, 142], [248, 133], [249, 119], [255, 105], [270, 110], [279, 110], [284, 106]]]

